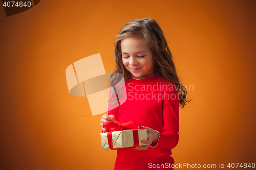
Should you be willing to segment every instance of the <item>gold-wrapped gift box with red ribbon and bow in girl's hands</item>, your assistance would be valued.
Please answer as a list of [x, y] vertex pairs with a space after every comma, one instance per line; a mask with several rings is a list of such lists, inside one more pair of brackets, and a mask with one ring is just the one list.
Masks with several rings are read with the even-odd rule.
[[102, 149], [136, 148], [146, 145], [142, 140], [147, 140], [146, 129], [136, 125], [134, 120], [119, 123], [115, 118], [109, 117], [113, 122], [103, 123], [103, 128], [108, 133], [101, 133]]

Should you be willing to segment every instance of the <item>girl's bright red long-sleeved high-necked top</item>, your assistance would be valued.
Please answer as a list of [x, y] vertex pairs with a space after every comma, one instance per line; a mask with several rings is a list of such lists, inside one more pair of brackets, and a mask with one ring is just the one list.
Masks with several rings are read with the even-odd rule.
[[115, 170], [172, 169], [174, 159], [170, 155], [179, 141], [179, 95], [176, 86], [155, 73], [143, 79], [132, 77], [126, 80], [125, 87], [126, 101], [108, 114], [113, 114], [120, 123], [134, 119], [138, 126], [157, 130], [160, 136], [157, 145], [151, 144], [156, 147], [148, 147], [145, 151], [132, 148], [117, 150]]

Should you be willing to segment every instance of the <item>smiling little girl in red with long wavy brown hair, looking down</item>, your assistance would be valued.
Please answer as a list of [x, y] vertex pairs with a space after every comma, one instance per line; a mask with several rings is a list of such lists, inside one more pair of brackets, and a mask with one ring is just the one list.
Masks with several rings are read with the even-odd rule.
[[[186, 88], [180, 84], [173, 56], [154, 19], [127, 23], [115, 39], [116, 69], [123, 75], [126, 101], [104, 114], [119, 123], [134, 119], [147, 130], [144, 146], [117, 150], [115, 170], [173, 169], [172, 149], [179, 141], [179, 106], [186, 104]], [[117, 99], [118, 100], [118, 99]]]

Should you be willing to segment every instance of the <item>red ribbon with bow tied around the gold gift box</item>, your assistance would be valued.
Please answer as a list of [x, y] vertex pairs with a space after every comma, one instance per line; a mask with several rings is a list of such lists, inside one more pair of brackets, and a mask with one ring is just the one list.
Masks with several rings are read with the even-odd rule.
[[130, 122], [127, 122], [127, 123], [119, 123], [115, 118], [113, 118], [113, 117], [109, 117], [109, 118], [113, 122], [104, 122], [103, 128], [105, 128], [106, 132], [108, 132], [107, 136], [108, 136], [109, 147], [111, 150], [115, 150], [113, 148], [113, 141], [112, 141], [112, 132], [113, 131], [132, 130], [134, 144], [133, 144], [133, 147], [131, 147], [131, 148], [136, 148], [139, 146], [138, 129], [145, 129], [145, 128], [142, 128], [142, 127], [136, 125], [135, 120], [131, 120]]

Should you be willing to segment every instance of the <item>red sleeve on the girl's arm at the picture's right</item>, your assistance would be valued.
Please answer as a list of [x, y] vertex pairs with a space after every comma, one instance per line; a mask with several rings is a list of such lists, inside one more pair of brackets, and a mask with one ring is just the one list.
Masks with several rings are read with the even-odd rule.
[[152, 147], [173, 149], [179, 141], [179, 93], [174, 84], [170, 87], [172, 90], [163, 92], [164, 126], [162, 132], [159, 132], [158, 143], [152, 143]]

